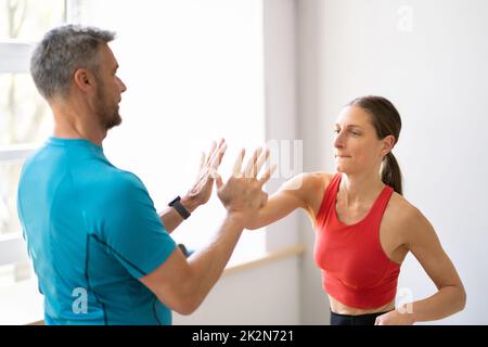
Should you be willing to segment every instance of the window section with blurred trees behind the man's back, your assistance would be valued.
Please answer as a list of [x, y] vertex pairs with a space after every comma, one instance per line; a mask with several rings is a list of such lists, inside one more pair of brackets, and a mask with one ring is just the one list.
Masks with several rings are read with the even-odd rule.
[[28, 65], [34, 42], [64, 16], [64, 1], [0, 0], [0, 286], [33, 274], [16, 191], [25, 158], [49, 136], [52, 123]]

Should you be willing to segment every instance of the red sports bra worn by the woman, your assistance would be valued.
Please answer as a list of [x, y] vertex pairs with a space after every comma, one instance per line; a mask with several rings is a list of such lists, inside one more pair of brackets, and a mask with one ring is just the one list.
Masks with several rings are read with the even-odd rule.
[[347, 226], [335, 209], [342, 174], [336, 174], [316, 219], [314, 260], [322, 270], [323, 288], [349, 307], [373, 309], [395, 298], [400, 266], [380, 243], [380, 226], [393, 188], [385, 185], [368, 215]]

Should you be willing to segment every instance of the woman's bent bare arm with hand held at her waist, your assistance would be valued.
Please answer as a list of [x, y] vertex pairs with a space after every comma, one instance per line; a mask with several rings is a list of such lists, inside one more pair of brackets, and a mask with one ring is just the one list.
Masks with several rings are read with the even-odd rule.
[[[437, 286], [437, 293], [411, 304], [407, 304], [393, 313], [387, 313], [385, 324], [412, 324], [433, 321], [461, 311], [466, 303], [466, 293], [461, 279], [428, 220], [416, 209], [410, 214], [407, 246], [422, 265]], [[398, 314], [399, 312], [399, 314]], [[391, 320], [389, 320], [391, 319]], [[380, 319], [382, 323], [382, 319]]]

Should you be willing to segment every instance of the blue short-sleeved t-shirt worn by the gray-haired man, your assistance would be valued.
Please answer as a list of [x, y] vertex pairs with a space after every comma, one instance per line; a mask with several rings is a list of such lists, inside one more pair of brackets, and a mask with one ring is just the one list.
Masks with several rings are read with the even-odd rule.
[[138, 279], [176, 244], [141, 180], [101, 146], [50, 138], [24, 165], [17, 205], [47, 324], [171, 324]]

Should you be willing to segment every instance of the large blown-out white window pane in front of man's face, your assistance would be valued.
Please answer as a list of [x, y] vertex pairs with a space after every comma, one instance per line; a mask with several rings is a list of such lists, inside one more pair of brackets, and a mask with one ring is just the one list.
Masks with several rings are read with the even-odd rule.
[[[77, 1], [75, 22], [117, 33], [111, 47], [128, 88], [105, 155], [142, 179], [159, 210], [190, 189], [213, 139], [229, 143], [223, 178], [241, 147], [264, 144], [261, 8], [261, 0]], [[172, 236], [197, 248], [223, 213], [214, 195]], [[235, 256], [264, 252], [265, 236], [245, 232]]]

